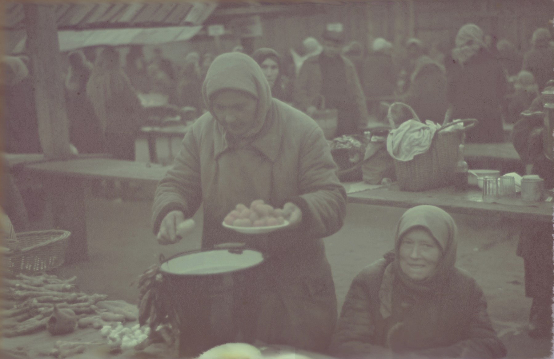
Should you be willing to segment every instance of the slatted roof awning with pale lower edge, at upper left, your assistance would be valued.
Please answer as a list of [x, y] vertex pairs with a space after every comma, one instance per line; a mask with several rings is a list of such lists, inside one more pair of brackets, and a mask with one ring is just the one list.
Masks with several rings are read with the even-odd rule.
[[[101, 45], [151, 45], [194, 37], [217, 3], [53, 4], [60, 51]], [[7, 6], [6, 52], [25, 49], [23, 5]]]

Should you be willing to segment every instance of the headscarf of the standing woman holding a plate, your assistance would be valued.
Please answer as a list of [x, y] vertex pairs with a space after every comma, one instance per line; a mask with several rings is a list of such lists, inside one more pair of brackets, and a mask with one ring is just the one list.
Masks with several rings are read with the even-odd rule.
[[255, 114], [256, 124], [243, 137], [258, 134], [264, 125], [271, 107], [271, 88], [260, 66], [246, 54], [226, 53], [213, 60], [202, 85], [204, 103], [214, 119], [218, 120], [212, 106], [212, 95], [219, 90], [238, 90], [248, 93], [258, 100]]

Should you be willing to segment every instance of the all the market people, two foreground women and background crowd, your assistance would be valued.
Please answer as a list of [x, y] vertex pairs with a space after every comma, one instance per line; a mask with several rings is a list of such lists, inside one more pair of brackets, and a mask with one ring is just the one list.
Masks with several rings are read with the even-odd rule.
[[[79, 152], [107, 151], [134, 160], [136, 133], [146, 120], [139, 94], [164, 94], [170, 105], [197, 109], [201, 116], [158, 185], [153, 228], [158, 239], [176, 242], [178, 224], [202, 202], [203, 248], [246, 240], [268, 254], [265, 269], [248, 279], [259, 292], [250, 291], [236, 313], [243, 341], [329, 349], [341, 358], [391, 352], [505, 356], [483, 292], [455, 268], [456, 225], [431, 206], [402, 216], [394, 250], [357, 276], [336, 324], [335, 288], [321, 238], [342, 227], [346, 193], [330, 147], [310, 115], [324, 102], [337, 110], [335, 136], [356, 134], [370, 114], [378, 113], [382, 99], [400, 100], [422, 120], [478, 119], [467, 134], [469, 142], [504, 141], [502, 117], [519, 120], [516, 149], [524, 161], [538, 163], [544, 159], [528, 153], [535, 132], [520, 114], [534, 108], [531, 102], [540, 107], [540, 92], [550, 86], [550, 32], [537, 29], [522, 57], [507, 40], [493, 45], [475, 24], [459, 29], [451, 52], [442, 52], [437, 43], [425, 49], [421, 40], [409, 39], [400, 60], [398, 49], [382, 38], [372, 40], [366, 55], [360, 43], [346, 44], [342, 32], [326, 30], [321, 43], [309, 38], [303, 44], [303, 54], [290, 56], [270, 48], [250, 55], [237, 47], [218, 57], [193, 52], [181, 67], [159, 49], [146, 61], [141, 48], [132, 47], [125, 65], [111, 47], [95, 59], [71, 53], [65, 75], [70, 142]], [[4, 65], [6, 151], [41, 152], [37, 114], [29, 106], [28, 60], [5, 57]], [[551, 172], [540, 174], [552, 183]], [[237, 203], [260, 199], [284, 208], [290, 220], [286, 232], [248, 239], [220, 225]], [[552, 248], [536, 244], [539, 237], [551, 243], [550, 230], [548, 225], [531, 228], [518, 248], [525, 259], [526, 294], [534, 299], [532, 336], [551, 334]]]

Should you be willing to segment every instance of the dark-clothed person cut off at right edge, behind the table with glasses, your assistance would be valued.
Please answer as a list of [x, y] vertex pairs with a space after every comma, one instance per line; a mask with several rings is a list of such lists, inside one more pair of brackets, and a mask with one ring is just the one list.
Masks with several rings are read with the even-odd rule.
[[[554, 91], [554, 80], [545, 89]], [[542, 94], [520, 114], [512, 130], [512, 143], [527, 167], [527, 173], [544, 180], [545, 189], [554, 188], [554, 159], [546, 148], [552, 148], [552, 134], [545, 136]], [[551, 130], [551, 129], [550, 129]], [[550, 139], [550, 143], [543, 143]], [[552, 339], [552, 223], [525, 221], [520, 231], [516, 254], [524, 259], [525, 296], [532, 299], [527, 331], [534, 338]]]

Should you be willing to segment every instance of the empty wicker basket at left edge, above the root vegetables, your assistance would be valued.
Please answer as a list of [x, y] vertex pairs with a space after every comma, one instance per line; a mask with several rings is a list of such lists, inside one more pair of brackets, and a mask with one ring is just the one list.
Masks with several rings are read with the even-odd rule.
[[70, 234], [66, 230], [17, 233], [17, 243], [9, 243], [6, 268], [14, 274], [32, 274], [59, 267], [64, 263]]

